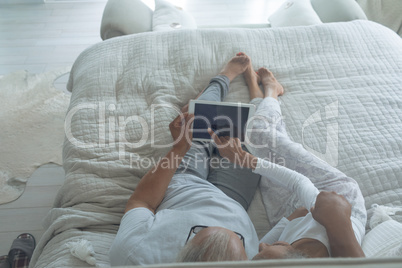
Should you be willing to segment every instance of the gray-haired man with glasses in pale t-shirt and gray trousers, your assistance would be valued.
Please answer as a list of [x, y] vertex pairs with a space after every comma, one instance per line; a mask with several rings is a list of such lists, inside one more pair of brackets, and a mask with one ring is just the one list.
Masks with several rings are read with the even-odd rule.
[[[230, 81], [249, 66], [248, 56], [237, 54], [199, 99], [222, 101]], [[247, 260], [257, 254], [258, 237], [246, 209], [260, 176], [247, 168], [236, 169], [236, 179], [210, 170], [211, 144], [191, 142], [191, 134], [180, 139], [191, 120], [185, 113], [169, 125], [175, 145], [128, 200], [110, 250], [112, 265]]]

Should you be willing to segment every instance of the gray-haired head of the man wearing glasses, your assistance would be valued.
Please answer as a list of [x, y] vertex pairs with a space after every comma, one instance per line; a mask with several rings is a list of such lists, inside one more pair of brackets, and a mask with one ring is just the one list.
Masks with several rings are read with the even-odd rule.
[[239, 235], [222, 227], [202, 228], [181, 250], [179, 262], [247, 260]]

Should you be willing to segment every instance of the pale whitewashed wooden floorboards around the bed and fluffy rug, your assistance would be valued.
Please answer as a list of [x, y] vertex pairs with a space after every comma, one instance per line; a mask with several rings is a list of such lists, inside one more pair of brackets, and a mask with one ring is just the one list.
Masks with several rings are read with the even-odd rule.
[[[171, 2], [193, 15], [198, 25], [222, 25], [265, 23], [284, 0]], [[0, 5], [0, 75], [22, 69], [41, 73], [71, 66], [85, 48], [102, 41], [99, 31], [105, 4], [106, 0], [53, 0]], [[67, 78], [61, 77], [55, 86], [64, 90]], [[32, 174], [18, 200], [0, 205], [0, 255], [8, 253], [13, 239], [22, 232], [40, 239], [44, 232], [42, 220], [63, 180], [61, 167], [44, 165]]]

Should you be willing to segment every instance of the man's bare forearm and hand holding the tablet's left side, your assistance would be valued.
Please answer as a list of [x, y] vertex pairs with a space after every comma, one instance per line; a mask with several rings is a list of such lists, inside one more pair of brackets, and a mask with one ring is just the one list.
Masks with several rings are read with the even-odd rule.
[[165, 196], [174, 173], [190, 149], [192, 135], [189, 132], [189, 121], [192, 117], [192, 115], [185, 113], [184, 118], [179, 115], [170, 123], [170, 133], [175, 141], [173, 148], [159, 161], [155, 168], [149, 170], [142, 177], [127, 202], [125, 212], [133, 208], [145, 207], [155, 213]]

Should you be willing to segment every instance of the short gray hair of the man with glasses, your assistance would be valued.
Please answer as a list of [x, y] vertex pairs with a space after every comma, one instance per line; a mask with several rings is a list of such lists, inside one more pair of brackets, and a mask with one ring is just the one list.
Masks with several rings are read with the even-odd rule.
[[199, 243], [191, 240], [180, 251], [178, 262], [240, 261], [241, 254], [230, 245], [230, 235], [214, 232]]

